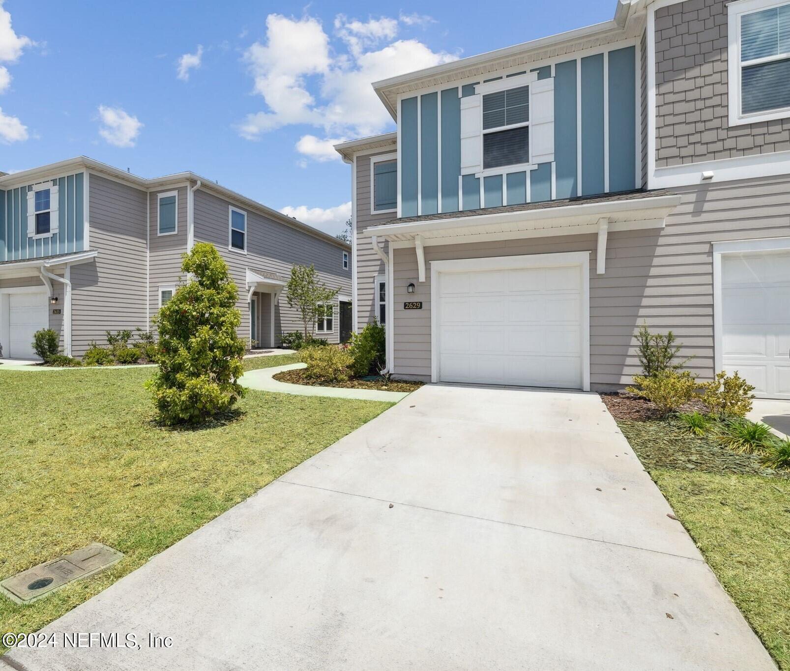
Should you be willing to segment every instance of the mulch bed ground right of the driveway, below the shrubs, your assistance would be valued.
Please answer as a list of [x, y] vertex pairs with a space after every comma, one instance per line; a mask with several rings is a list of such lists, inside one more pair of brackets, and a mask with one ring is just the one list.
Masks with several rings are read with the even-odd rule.
[[[679, 420], [662, 420], [656, 406], [636, 394], [612, 392], [600, 397], [645, 469], [790, 477], [787, 471], [766, 469], [755, 454], [731, 450], [716, 435], [691, 435]], [[701, 401], [683, 406], [682, 412], [694, 410], [707, 413]]]

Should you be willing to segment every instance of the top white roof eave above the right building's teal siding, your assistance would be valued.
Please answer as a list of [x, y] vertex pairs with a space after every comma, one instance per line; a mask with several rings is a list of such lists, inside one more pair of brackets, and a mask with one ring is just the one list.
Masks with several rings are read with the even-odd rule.
[[497, 70], [538, 62], [562, 53], [599, 46], [601, 43], [638, 36], [644, 18], [641, 11], [649, 2], [650, 0], [618, 0], [615, 17], [610, 21], [375, 81], [373, 89], [389, 114], [396, 119], [397, 98], [404, 93], [478, 77]]

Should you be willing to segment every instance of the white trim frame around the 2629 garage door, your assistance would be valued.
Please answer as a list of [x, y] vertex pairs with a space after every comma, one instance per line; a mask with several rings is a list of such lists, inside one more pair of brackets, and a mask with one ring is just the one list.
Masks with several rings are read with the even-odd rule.
[[[483, 258], [453, 258], [431, 261], [431, 382], [439, 380], [439, 273], [465, 273], [480, 270], [581, 266], [581, 388], [590, 390], [590, 304], [589, 251], [559, 254], [521, 254]], [[388, 295], [389, 298], [389, 295]]]

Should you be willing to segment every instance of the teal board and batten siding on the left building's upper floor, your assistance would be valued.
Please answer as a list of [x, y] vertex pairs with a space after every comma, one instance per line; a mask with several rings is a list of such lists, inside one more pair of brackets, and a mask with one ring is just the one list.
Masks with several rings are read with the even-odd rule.
[[82, 172], [57, 178], [58, 232], [40, 239], [28, 238], [31, 185], [0, 191], [0, 262], [85, 251], [84, 180]]

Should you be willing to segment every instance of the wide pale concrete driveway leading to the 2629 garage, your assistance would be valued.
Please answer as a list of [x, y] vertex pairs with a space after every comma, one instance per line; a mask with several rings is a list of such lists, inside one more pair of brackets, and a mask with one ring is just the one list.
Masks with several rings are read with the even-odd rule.
[[121, 647], [3, 659], [774, 669], [668, 512], [595, 394], [426, 386], [44, 630]]

